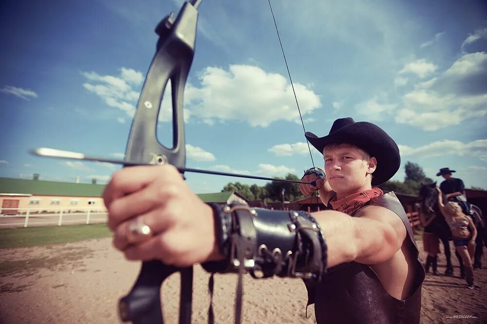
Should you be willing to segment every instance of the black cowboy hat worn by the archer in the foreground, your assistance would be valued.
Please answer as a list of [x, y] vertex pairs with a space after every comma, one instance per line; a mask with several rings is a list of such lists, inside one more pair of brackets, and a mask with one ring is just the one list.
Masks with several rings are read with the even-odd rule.
[[391, 179], [401, 164], [399, 148], [391, 136], [379, 126], [367, 121], [356, 122], [351, 117], [340, 118], [333, 122], [327, 136], [318, 137], [310, 132], [306, 132], [305, 136], [320, 153], [323, 153], [324, 147], [328, 144], [343, 143], [356, 145], [371, 157], [375, 157], [377, 168], [372, 177], [372, 186], [378, 186]]

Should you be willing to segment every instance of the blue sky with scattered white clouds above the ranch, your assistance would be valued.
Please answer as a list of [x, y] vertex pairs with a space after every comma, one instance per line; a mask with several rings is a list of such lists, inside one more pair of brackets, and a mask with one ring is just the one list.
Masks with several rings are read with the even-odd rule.
[[[365, 2], [365, 3], [364, 3]], [[32, 156], [37, 147], [123, 157], [154, 53], [181, 1], [2, 1], [0, 176], [106, 183], [119, 168]], [[403, 165], [487, 188], [484, 1], [272, 1], [307, 131], [353, 117], [388, 132]], [[311, 159], [263, 0], [203, 0], [185, 93], [187, 167], [301, 175]], [[168, 102], [158, 137], [170, 142]], [[165, 135], [166, 134], [166, 135]], [[314, 149], [313, 149], [314, 150]], [[313, 157], [322, 166], [316, 150]], [[259, 180], [190, 174], [197, 193]]]

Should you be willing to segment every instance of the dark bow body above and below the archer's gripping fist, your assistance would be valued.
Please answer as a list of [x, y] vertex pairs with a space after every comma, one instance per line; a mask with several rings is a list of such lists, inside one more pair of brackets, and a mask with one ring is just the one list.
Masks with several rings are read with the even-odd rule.
[[[155, 29], [159, 35], [157, 51], [140, 94], [135, 112], [125, 160], [130, 164], [169, 163], [184, 169], [186, 163], [183, 93], [194, 55], [196, 7], [200, 0], [186, 2], [176, 19], [172, 13]], [[173, 147], [167, 148], [156, 137], [157, 118], [164, 89], [171, 80]], [[143, 262], [139, 276], [129, 294], [120, 299], [122, 321], [134, 324], [164, 323], [160, 290], [172, 273], [181, 273], [179, 323], [191, 322], [193, 269], [167, 266], [160, 261]]]

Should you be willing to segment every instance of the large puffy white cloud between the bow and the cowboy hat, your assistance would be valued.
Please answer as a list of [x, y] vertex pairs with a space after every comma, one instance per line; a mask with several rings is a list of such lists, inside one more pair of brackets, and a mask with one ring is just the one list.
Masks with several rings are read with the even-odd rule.
[[[291, 85], [281, 74], [259, 67], [231, 65], [228, 70], [208, 67], [199, 75], [201, 87], [187, 85], [185, 100], [191, 113], [204, 122], [239, 120], [266, 127], [277, 120], [299, 120]], [[321, 106], [317, 94], [294, 84], [301, 114]]]

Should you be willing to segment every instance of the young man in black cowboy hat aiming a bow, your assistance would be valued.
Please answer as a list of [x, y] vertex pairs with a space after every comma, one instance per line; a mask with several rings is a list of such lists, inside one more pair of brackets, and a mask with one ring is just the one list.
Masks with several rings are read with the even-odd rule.
[[325, 155], [335, 210], [206, 205], [172, 166], [124, 168], [103, 193], [115, 248], [129, 260], [305, 279], [317, 323], [419, 323], [425, 273], [411, 226], [393, 193], [372, 188], [398, 170], [397, 145], [351, 118], [306, 136]]

